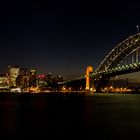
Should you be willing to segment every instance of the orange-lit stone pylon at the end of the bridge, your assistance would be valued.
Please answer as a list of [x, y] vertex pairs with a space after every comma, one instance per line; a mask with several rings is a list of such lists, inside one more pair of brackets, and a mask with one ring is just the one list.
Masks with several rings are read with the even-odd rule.
[[92, 66], [88, 66], [86, 69], [86, 90], [89, 91], [90, 89], [94, 89], [93, 80], [90, 77], [90, 73], [93, 72]]

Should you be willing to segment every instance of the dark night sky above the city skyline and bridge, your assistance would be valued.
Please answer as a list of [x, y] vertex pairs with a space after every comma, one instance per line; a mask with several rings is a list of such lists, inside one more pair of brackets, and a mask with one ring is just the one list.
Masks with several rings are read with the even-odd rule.
[[129, 35], [137, 33], [136, 2], [4, 1], [0, 4], [0, 72], [9, 65], [51, 72], [64, 78], [84, 75]]

